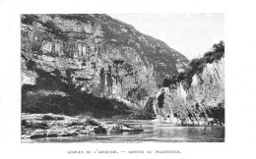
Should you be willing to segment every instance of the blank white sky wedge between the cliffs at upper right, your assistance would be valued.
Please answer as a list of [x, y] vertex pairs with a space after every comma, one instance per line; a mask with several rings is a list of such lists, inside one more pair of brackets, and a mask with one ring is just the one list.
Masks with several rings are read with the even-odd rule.
[[224, 40], [224, 14], [110, 14], [144, 34], [165, 42], [189, 60]]

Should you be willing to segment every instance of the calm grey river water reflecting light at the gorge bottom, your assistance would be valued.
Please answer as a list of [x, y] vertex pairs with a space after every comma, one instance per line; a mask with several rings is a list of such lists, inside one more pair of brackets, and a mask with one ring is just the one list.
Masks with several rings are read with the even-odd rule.
[[[116, 121], [115, 121], [116, 122]], [[115, 123], [105, 121], [105, 123]], [[151, 123], [149, 120], [122, 121], [129, 125], [142, 125], [144, 132], [118, 132], [30, 139], [26, 142], [224, 142], [224, 127], [184, 127]]]

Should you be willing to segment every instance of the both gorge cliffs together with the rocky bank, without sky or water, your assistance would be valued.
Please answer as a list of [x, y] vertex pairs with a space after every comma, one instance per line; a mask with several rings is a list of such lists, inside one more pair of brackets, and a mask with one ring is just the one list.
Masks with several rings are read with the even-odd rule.
[[125, 126], [95, 118], [224, 125], [223, 41], [189, 61], [107, 15], [22, 15], [21, 53], [24, 137]]

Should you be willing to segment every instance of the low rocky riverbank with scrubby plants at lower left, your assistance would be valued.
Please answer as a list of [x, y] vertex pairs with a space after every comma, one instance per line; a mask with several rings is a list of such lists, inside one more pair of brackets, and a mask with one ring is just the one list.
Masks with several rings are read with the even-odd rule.
[[89, 116], [22, 114], [22, 139], [90, 135], [129, 129], [133, 128], [122, 124], [105, 124]]

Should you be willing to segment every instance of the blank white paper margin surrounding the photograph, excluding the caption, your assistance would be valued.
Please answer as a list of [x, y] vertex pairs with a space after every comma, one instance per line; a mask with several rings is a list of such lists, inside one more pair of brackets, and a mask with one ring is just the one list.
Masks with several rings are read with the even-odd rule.
[[[181, 155], [111, 158], [255, 158], [255, 4], [249, 0], [1, 0], [0, 157], [69, 158], [67, 150], [177, 149]], [[226, 126], [224, 143], [21, 143], [20, 14], [224, 13]]]

